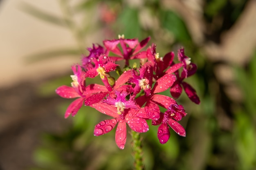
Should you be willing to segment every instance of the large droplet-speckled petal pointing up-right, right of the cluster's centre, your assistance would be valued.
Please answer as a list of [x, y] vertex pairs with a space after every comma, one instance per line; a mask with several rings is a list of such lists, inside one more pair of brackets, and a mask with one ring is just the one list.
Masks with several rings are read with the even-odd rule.
[[153, 88], [153, 93], [155, 94], [164, 92], [166, 89], [173, 85], [175, 80], [176, 77], [173, 74], [165, 74], [156, 81], [155, 86]]

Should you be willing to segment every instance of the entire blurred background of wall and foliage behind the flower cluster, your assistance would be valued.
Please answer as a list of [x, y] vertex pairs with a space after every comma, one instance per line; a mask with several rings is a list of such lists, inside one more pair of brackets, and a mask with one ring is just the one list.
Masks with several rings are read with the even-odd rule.
[[[64, 119], [70, 66], [104, 39], [150, 36], [163, 56], [184, 46], [200, 96], [177, 100], [186, 137], [143, 134], [146, 170], [256, 170], [255, 0], [0, 0], [0, 170], [130, 170], [105, 116], [83, 107]], [[102, 44], [101, 44], [102, 45]], [[92, 80], [90, 82], [93, 82]], [[90, 83], [89, 82], [89, 83]]]

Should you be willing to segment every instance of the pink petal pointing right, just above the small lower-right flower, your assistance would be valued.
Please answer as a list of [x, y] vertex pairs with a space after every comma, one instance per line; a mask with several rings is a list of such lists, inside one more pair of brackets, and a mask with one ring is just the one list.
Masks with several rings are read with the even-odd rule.
[[151, 100], [156, 102], [157, 105], [162, 106], [166, 109], [168, 109], [168, 107], [173, 104], [177, 104], [177, 102], [173, 98], [161, 94], [154, 94], [153, 96], [151, 96]]

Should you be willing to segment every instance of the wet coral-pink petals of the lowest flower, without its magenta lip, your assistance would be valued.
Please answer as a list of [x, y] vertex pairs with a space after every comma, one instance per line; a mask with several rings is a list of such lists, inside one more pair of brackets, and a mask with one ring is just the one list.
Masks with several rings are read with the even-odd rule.
[[103, 114], [113, 117], [110, 120], [99, 122], [94, 128], [94, 135], [100, 136], [110, 132], [118, 123], [115, 141], [120, 149], [124, 149], [126, 144], [126, 123], [130, 128], [139, 133], [148, 131], [148, 124], [146, 122], [146, 113], [143, 109], [124, 109], [123, 113], [119, 114], [117, 108], [108, 103], [98, 102], [92, 105]]

